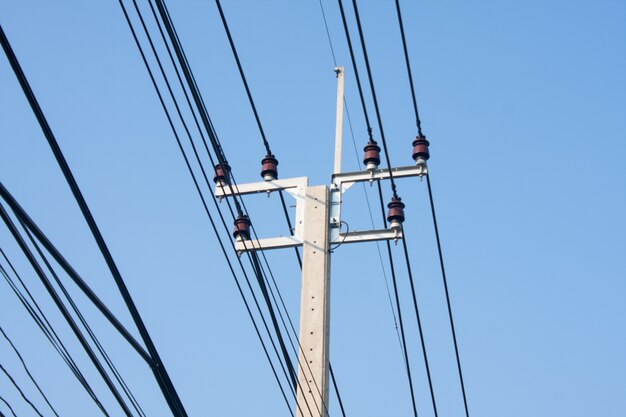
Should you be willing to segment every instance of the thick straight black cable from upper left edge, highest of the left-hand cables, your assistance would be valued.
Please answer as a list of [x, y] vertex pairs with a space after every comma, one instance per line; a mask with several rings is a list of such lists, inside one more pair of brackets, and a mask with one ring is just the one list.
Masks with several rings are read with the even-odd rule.
[[80, 191], [80, 188], [78, 187], [78, 184], [76, 183], [76, 180], [74, 179], [74, 175], [72, 174], [69, 168], [69, 165], [67, 164], [67, 161], [65, 160], [65, 157], [63, 156], [63, 152], [61, 151], [61, 148], [59, 147], [56, 141], [56, 138], [54, 137], [54, 134], [52, 133], [52, 129], [50, 128], [43, 114], [43, 111], [41, 110], [41, 107], [39, 106], [39, 103], [37, 102], [37, 99], [35, 98], [35, 95], [32, 89], [30, 88], [28, 80], [26, 79], [26, 76], [24, 72], [22, 71], [22, 68], [17, 60], [17, 57], [15, 56], [15, 53], [13, 52], [13, 49], [11, 48], [11, 45], [9, 44], [9, 41], [6, 38], [4, 34], [4, 30], [2, 30], [1, 26], [0, 26], [0, 41], [2, 43], [2, 47], [5, 51], [5, 54], [7, 55], [7, 58], [11, 64], [11, 67], [13, 68], [13, 71], [15, 72], [15, 75], [18, 78], [18, 81], [20, 82], [22, 90], [24, 91], [24, 94], [26, 95], [26, 98], [28, 99], [28, 102], [30, 103], [31, 108], [33, 112], [35, 113], [37, 120], [39, 121], [39, 124], [44, 132], [44, 135], [46, 136], [48, 144], [50, 145], [50, 148], [52, 149], [52, 152], [54, 153], [54, 156], [59, 164], [59, 167], [61, 168], [61, 171], [63, 172], [63, 175], [70, 189], [72, 190], [72, 194], [74, 195], [74, 198], [76, 199], [76, 202], [78, 203], [78, 206], [80, 207], [80, 210], [89, 226], [89, 229], [94, 239], [96, 240], [96, 243], [98, 244], [98, 248], [100, 249], [100, 252], [102, 253], [104, 257], [109, 267], [109, 270], [111, 271], [113, 279], [115, 280], [115, 283], [120, 291], [120, 294], [122, 295], [124, 303], [126, 304], [126, 307], [128, 308], [133, 318], [133, 321], [135, 325], [137, 326], [137, 329], [144, 341], [144, 344], [146, 345], [146, 348], [148, 352], [150, 353], [150, 356], [153, 362], [153, 366], [151, 367], [151, 369], [155, 375], [155, 379], [157, 380], [161, 388], [161, 391], [163, 392], [163, 395], [166, 397], [166, 400], [172, 410], [172, 413], [174, 413], [174, 415], [176, 416], [185, 417], [187, 416], [187, 413], [185, 412], [185, 409], [180, 401], [178, 393], [176, 392], [176, 389], [174, 388], [174, 385], [167, 373], [167, 370], [165, 369], [165, 365], [161, 361], [161, 358], [159, 356], [158, 351], [156, 350], [156, 347], [152, 341], [152, 338], [150, 337], [150, 334], [148, 333], [148, 330], [145, 327], [145, 324], [143, 323], [143, 320], [139, 314], [139, 311], [137, 310], [137, 307], [135, 306], [135, 303], [130, 295], [130, 292], [128, 291], [128, 288], [126, 287], [126, 283], [124, 282], [124, 279], [122, 278], [122, 275], [120, 274], [117, 268], [117, 265], [115, 264], [115, 261], [113, 260], [113, 256], [111, 255], [111, 252], [109, 251], [109, 248], [106, 245], [106, 242], [104, 241], [102, 233], [100, 232], [100, 229], [98, 228], [98, 225], [96, 224], [95, 219], [93, 218], [93, 215], [91, 214], [91, 211], [87, 205], [87, 202], [85, 201], [85, 198], [83, 197], [83, 194]]

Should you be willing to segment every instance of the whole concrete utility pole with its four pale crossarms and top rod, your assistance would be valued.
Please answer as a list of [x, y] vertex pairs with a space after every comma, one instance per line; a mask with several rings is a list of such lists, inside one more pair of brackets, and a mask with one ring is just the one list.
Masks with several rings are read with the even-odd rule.
[[[329, 335], [330, 335], [330, 247], [335, 244], [397, 240], [402, 227], [341, 233], [341, 196], [357, 182], [385, 180], [389, 169], [341, 173], [343, 131], [343, 67], [337, 75], [337, 127], [335, 163], [331, 185], [309, 186], [306, 177], [275, 179], [239, 184], [236, 190], [218, 184], [217, 197], [271, 193], [284, 190], [296, 199], [296, 226], [290, 236], [237, 240], [239, 252], [302, 247], [302, 291], [300, 302], [300, 346], [298, 354], [297, 416], [328, 416]], [[426, 161], [417, 165], [393, 168], [395, 179], [426, 174]], [[307, 407], [308, 405], [308, 407]], [[306, 412], [307, 414], [303, 414]]]

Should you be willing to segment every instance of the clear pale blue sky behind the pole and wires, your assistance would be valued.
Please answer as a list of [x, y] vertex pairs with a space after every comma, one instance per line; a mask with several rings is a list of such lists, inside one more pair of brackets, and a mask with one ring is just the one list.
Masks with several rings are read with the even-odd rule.
[[[340, 15], [336, 2], [324, 6], [338, 62], [347, 69], [360, 157], [366, 134]], [[215, 4], [169, 7], [238, 181], [259, 180], [263, 148]], [[391, 160], [409, 165], [416, 132], [393, 2], [360, 7]], [[402, 7], [431, 141], [471, 415], [624, 416], [626, 6], [533, 0], [402, 1]], [[225, 1], [224, 9], [281, 177], [328, 183], [336, 85], [317, 0]], [[0, 23], [189, 414], [287, 416], [117, 2], [1, 1]], [[373, 116], [369, 95], [368, 102]], [[347, 127], [345, 133], [344, 165], [357, 169]], [[0, 144], [0, 180], [132, 327], [4, 55]], [[460, 416], [425, 183], [399, 182], [399, 193], [440, 416]], [[344, 219], [353, 229], [369, 225], [364, 201], [360, 187], [346, 197]], [[276, 196], [246, 204], [259, 234], [285, 232]], [[107, 408], [121, 415], [4, 226], [0, 243]], [[401, 246], [394, 254], [418, 411], [431, 416]], [[291, 251], [268, 257], [297, 322], [295, 257]], [[168, 415], [149, 369], [63, 279], [147, 414]], [[0, 325], [62, 415], [97, 415], [4, 281]], [[3, 340], [0, 358], [49, 415]], [[331, 361], [349, 416], [411, 414], [374, 244], [333, 254]], [[0, 393], [18, 415], [32, 415], [2, 375]], [[331, 415], [338, 416], [332, 401]], [[0, 410], [7, 412], [2, 404]]]

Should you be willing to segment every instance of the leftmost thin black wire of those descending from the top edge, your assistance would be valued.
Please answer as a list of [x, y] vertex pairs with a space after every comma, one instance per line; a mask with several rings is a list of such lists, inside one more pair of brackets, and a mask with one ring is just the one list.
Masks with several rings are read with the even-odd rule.
[[[185, 153], [185, 151], [184, 151], [184, 148], [183, 148], [183, 146], [182, 146], [182, 143], [181, 143], [181, 141], [180, 141], [180, 138], [178, 137], [178, 133], [176, 132], [176, 128], [174, 127], [174, 124], [173, 124], [173, 121], [172, 121], [172, 119], [171, 119], [171, 116], [169, 115], [169, 111], [167, 110], [167, 107], [165, 106], [165, 102], [163, 101], [163, 97], [161, 96], [161, 93], [160, 93], [160, 91], [159, 91], [159, 88], [158, 88], [158, 86], [157, 86], [157, 84], [156, 84], [156, 81], [155, 81], [154, 76], [153, 76], [153, 74], [152, 74], [152, 70], [150, 69], [150, 67], [149, 67], [149, 65], [148, 65], [148, 62], [147, 62], [146, 57], [145, 57], [145, 54], [143, 53], [143, 49], [141, 48], [141, 45], [139, 44], [139, 41], [138, 41], [137, 36], [136, 36], [136, 34], [135, 34], [134, 28], [132, 27], [132, 24], [130, 23], [130, 19], [129, 19], [129, 17], [128, 17], [128, 14], [126, 13], [126, 9], [125, 9], [124, 5], [123, 5], [121, 2], [120, 2], [120, 5], [122, 6], [122, 10], [124, 11], [124, 15], [125, 15], [125, 17], [126, 17], [126, 20], [127, 20], [128, 24], [129, 24], [129, 27], [130, 27], [131, 32], [132, 32], [132, 34], [133, 34], [133, 38], [135, 39], [135, 42], [136, 42], [136, 44], [137, 44], [137, 46], [138, 46], [138, 48], [139, 48], [140, 54], [141, 54], [141, 56], [142, 56], [143, 62], [144, 62], [144, 64], [145, 64], [145, 66], [146, 66], [146, 69], [148, 70], [148, 74], [149, 74], [149, 76], [150, 76], [150, 79], [151, 79], [151, 81], [152, 81], [152, 84], [153, 84], [153, 86], [155, 87], [155, 90], [156, 90], [156, 92], [157, 92], [157, 95], [158, 95], [159, 101], [160, 101], [160, 103], [161, 103], [161, 106], [163, 107], [163, 110], [164, 110], [165, 115], [166, 115], [166, 117], [167, 117], [167, 120], [168, 120], [168, 123], [169, 123], [169, 125], [170, 125], [170, 128], [172, 129], [172, 132], [173, 132], [173, 134], [174, 134], [174, 137], [175, 137], [175, 139], [176, 139], [176, 142], [177, 142], [177, 144], [178, 144], [178, 147], [179, 147], [179, 149], [180, 149], [180, 151], [181, 151], [181, 153], [182, 153], [182, 155], [183, 155], [183, 158], [184, 158], [184, 160], [185, 160], [185, 164], [186, 164], [186, 166], [187, 166], [187, 169], [188, 169], [188, 171], [189, 171], [189, 173], [190, 173], [190, 175], [191, 175], [191, 177], [192, 177], [192, 180], [193, 180], [193, 182], [194, 182], [194, 186], [195, 186], [195, 188], [196, 188], [196, 191], [198, 192], [198, 195], [200, 196], [200, 199], [201, 199], [201, 201], [202, 201], [202, 204], [203, 204], [204, 210], [205, 210], [205, 212], [206, 212], [206, 214], [207, 214], [207, 216], [208, 216], [208, 218], [209, 218], [209, 220], [210, 220], [211, 226], [212, 226], [212, 228], [213, 228], [213, 230], [214, 230], [214, 232], [215, 232], [215, 234], [216, 234], [216, 236], [217, 236], [217, 238], [218, 238], [218, 242], [219, 242], [219, 244], [220, 244], [220, 247], [221, 247], [221, 249], [222, 249], [222, 252], [223, 252], [223, 254], [224, 254], [224, 257], [225, 257], [225, 258], [226, 258], [226, 260], [227, 260], [227, 263], [228, 263], [229, 269], [230, 269], [230, 271], [231, 271], [231, 274], [233, 275], [233, 278], [235, 279], [235, 283], [236, 283], [236, 285], [237, 285], [237, 289], [238, 289], [238, 291], [239, 291], [239, 293], [240, 293], [240, 296], [241, 296], [242, 300], [244, 301], [244, 305], [246, 306], [246, 310], [247, 310], [247, 312], [248, 312], [248, 315], [250, 316], [250, 318], [251, 318], [251, 320], [252, 320], [253, 326], [254, 326], [255, 331], [256, 331], [256, 333], [257, 333], [257, 336], [258, 336], [258, 338], [259, 338], [259, 340], [260, 340], [260, 342], [261, 342], [261, 345], [262, 345], [262, 347], [263, 347], [264, 353], [265, 353], [265, 355], [266, 355], [266, 357], [267, 357], [267, 359], [268, 359], [268, 362], [269, 362], [269, 364], [270, 364], [270, 367], [271, 367], [271, 369], [272, 369], [272, 373], [274, 374], [274, 377], [275, 377], [275, 379], [276, 379], [276, 381], [277, 381], [277, 383], [278, 383], [278, 385], [279, 385], [279, 388], [280, 388], [280, 390], [281, 390], [281, 393], [282, 393], [282, 396], [283, 396], [283, 398], [284, 398], [284, 400], [285, 400], [285, 403], [286, 403], [286, 405], [287, 405], [287, 408], [290, 410], [290, 413], [293, 415], [293, 411], [292, 411], [292, 410], [291, 410], [291, 408], [290, 408], [289, 401], [287, 400], [287, 397], [286, 397], [285, 391], [284, 391], [284, 389], [283, 389], [283, 387], [282, 387], [282, 383], [280, 382], [280, 378], [278, 377], [278, 374], [276, 373], [276, 369], [275, 369], [274, 364], [273, 364], [273, 362], [272, 362], [272, 360], [271, 360], [271, 357], [270, 357], [270, 355], [269, 355], [269, 352], [268, 352], [268, 350], [267, 350], [267, 348], [266, 348], [266, 346], [265, 346], [265, 342], [263, 341], [263, 338], [262, 338], [261, 333], [260, 333], [260, 331], [259, 331], [259, 329], [258, 329], [258, 326], [257, 326], [256, 321], [255, 321], [255, 319], [254, 319], [254, 316], [253, 316], [253, 314], [252, 314], [252, 311], [251, 311], [251, 309], [250, 309], [250, 307], [249, 307], [249, 305], [248, 305], [248, 302], [247, 302], [247, 300], [246, 300], [246, 298], [245, 298], [245, 295], [244, 295], [244, 293], [243, 293], [243, 289], [242, 289], [242, 287], [241, 287], [241, 285], [240, 285], [240, 283], [239, 283], [239, 281], [238, 281], [238, 279], [237, 279], [236, 273], [235, 273], [235, 271], [234, 271], [234, 269], [233, 269], [233, 267], [232, 267], [232, 264], [231, 264], [231, 262], [230, 262], [230, 259], [228, 258], [228, 255], [227, 255], [227, 253], [226, 253], [226, 249], [225, 249], [225, 247], [224, 247], [224, 244], [223, 244], [223, 242], [222, 242], [222, 239], [221, 239], [221, 237], [220, 237], [220, 235], [219, 235], [219, 233], [218, 233], [218, 231], [217, 231], [217, 226], [215, 225], [215, 222], [213, 221], [212, 216], [211, 216], [211, 214], [210, 214], [210, 212], [209, 212], [208, 206], [207, 206], [207, 204], [206, 204], [206, 201], [204, 200], [204, 197], [203, 197], [202, 191], [201, 191], [201, 189], [200, 189], [200, 185], [199, 185], [199, 183], [198, 183], [198, 181], [197, 181], [197, 179], [196, 179], [196, 177], [195, 177], [195, 174], [193, 173], [193, 169], [191, 168], [190, 162], [189, 162], [189, 160], [188, 160], [188, 158], [187, 158], [187, 156], [186, 156], [186, 153]], [[208, 149], [207, 149], [207, 150], [208, 150]], [[221, 216], [221, 214], [220, 214], [220, 216]], [[223, 218], [222, 218], [222, 221], [223, 221]], [[241, 265], [241, 263], [240, 263], [240, 265]], [[246, 278], [246, 279], [247, 279], [247, 278]], [[250, 286], [250, 284], [249, 284], [249, 283], [248, 283], [248, 285]], [[251, 288], [251, 286], [250, 286], [250, 288]], [[253, 293], [253, 296], [254, 296], [254, 293]], [[257, 303], [257, 307], [258, 307], [258, 303]], [[271, 340], [271, 338], [270, 338], [270, 340]], [[282, 362], [280, 362], [280, 363], [281, 363], [281, 365], [282, 365]]]

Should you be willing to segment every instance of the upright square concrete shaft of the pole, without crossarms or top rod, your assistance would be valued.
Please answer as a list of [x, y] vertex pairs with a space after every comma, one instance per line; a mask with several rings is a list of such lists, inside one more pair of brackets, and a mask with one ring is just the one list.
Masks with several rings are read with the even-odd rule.
[[[327, 417], [330, 328], [329, 191], [327, 186], [308, 187], [303, 236], [302, 294], [300, 303], [300, 352], [297, 416], [305, 417], [305, 402], [317, 404], [313, 417]], [[308, 382], [308, 383], [307, 383]], [[311, 389], [315, 384], [319, 390]]]

